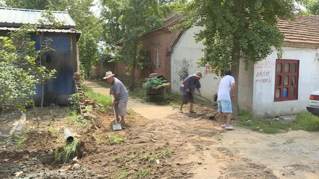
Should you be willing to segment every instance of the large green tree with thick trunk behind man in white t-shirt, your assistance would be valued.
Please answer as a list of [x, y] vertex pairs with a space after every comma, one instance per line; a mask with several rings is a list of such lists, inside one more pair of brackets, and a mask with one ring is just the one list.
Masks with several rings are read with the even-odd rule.
[[[276, 26], [277, 18], [293, 19], [299, 0], [192, 0], [187, 5], [179, 4], [182, 24], [178, 28], [205, 27], [195, 34], [196, 42], [204, 41], [204, 56], [197, 61], [199, 66], [211, 65], [216, 74], [231, 68], [236, 86], [239, 86], [239, 64], [246, 70], [251, 63], [265, 59], [271, 54], [271, 46], [278, 50], [284, 35]], [[233, 101], [233, 112], [238, 111], [238, 87]]]

